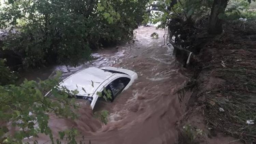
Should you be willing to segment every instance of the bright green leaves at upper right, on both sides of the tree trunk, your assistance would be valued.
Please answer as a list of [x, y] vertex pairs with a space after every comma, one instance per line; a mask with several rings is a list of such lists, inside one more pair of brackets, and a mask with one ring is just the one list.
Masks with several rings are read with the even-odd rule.
[[[160, 0], [158, 1], [159, 10], [163, 13], [152, 20], [154, 23], [162, 22], [160, 27], [166, 27], [169, 20], [184, 18], [190, 22], [197, 22], [203, 17], [210, 17], [214, 0]], [[239, 19], [255, 17], [255, 10], [250, 10], [251, 1], [229, 0], [225, 7], [225, 13], [219, 13], [221, 19]], [[254, 1], [252, 1], [255, 3]]]

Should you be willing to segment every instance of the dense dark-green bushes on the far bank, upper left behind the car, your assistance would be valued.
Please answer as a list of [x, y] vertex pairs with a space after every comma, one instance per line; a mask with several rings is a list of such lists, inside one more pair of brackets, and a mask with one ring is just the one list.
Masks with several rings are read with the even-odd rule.
[[13, 29], [1, 53], [12, 51], [24, 67], [77, 65], [91, 48], [127, 41], [142, 21], [146, 0], [9, 0], [0, 27]]

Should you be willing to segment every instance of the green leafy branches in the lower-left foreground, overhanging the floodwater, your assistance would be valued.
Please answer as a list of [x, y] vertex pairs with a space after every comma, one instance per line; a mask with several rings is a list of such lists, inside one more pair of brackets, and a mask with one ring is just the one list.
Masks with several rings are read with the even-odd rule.
[[[22, 143], [24, 138], [37, 136], [38, 133], [49, 135], [49, 113], [61, 117], [75, 118], [73, 109], [77, 105], [68, 98], [66, 92], [60, 92], [58, 85], [60, 73], [51, 80], [27, 81], [20, 85], [0, 86], [0, 143]], [[52, 96], [45, 93], [52, 89]]]

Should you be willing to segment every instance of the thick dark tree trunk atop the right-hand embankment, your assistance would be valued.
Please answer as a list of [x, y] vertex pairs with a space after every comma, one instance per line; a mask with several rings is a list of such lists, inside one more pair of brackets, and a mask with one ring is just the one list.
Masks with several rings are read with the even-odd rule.
[[209, 33], [210, 34], [219, 34], [222, 33], [222, 19], [218, 16], [219, 14], [224, 14], [225, 9], [227, 7], [228, 0], [214, 0], [212, 9], [211, 9], [211, 17], [210, 17], [210, 27]]

